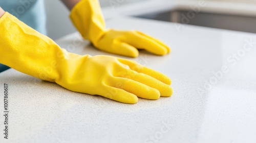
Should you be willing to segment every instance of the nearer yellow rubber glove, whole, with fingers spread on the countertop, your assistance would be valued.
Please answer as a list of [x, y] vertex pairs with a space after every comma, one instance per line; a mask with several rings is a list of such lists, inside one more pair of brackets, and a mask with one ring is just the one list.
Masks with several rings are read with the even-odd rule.
[[0, 63], [75, 92], [130, 104], [173, 92], [170, 79], [155, 70], [112, 56], [69, 53], [8, 12], [0, 18], [0, 45]]

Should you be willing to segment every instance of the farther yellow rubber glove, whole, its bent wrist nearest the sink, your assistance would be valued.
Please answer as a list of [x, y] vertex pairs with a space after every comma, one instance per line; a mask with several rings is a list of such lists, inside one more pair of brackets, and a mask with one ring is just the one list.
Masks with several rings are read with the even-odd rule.
[[129, 57], [137, 57], [137, 49], [156, 55], [170, 52], [163, 42], [141, 32], [105, 29], [97, 0], [81, 0], [71, 10], [70, 18], [82, 37], [89, 39], [99, 50]]

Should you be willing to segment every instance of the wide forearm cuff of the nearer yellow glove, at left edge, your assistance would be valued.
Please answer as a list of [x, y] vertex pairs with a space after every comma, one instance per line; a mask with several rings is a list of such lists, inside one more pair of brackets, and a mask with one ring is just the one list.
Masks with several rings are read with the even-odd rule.
[[0, 28], [0, 53], [4, 55], [0, 63], [33, 77], [56, 82], [65, 61], [79, 56], [61, 49], [8, 12], [0, 18]]

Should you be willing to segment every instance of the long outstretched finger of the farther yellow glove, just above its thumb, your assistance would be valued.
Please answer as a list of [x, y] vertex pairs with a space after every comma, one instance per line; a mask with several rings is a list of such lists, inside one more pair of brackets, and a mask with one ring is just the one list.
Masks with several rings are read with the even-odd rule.
[[137, 47], [137, 49], [145, 49], [148, 52], [154, 53], [156, 55], [167, 54], [166, 47], [162, 46], [155, 40], [152, 40], [137, 32], [129, 32], [127, 35], [129, 36], [123, 37], [120, 40]]

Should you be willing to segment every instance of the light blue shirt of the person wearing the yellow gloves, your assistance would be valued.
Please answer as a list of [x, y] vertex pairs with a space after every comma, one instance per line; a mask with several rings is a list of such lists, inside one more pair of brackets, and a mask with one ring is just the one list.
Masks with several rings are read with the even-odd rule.
[[[42, 0], [0, 0], [0, 6], [42, 34], [46, 32], [45, 5]], [[0, 53], [1, 54], [1, 53]], [[0, 64], [0, 72], [8, 69]]]

